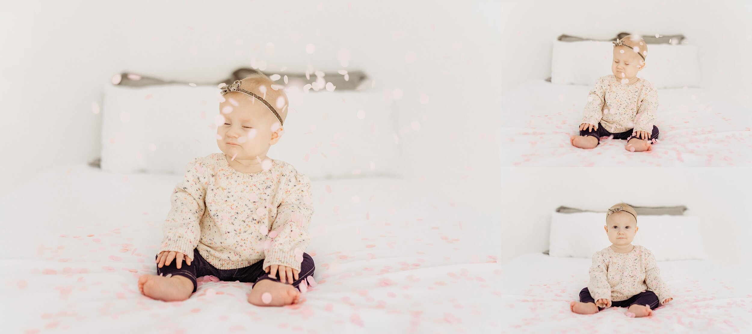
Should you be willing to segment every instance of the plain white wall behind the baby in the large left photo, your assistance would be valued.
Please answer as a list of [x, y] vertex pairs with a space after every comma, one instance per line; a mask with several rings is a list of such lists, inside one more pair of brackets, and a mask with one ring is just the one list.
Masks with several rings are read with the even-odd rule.
[[[488, 186], [499, 182], [497, 150], [487, 135], [496, 122], [484, 120], [496, 114], [483, 98], [500, 77], [499, 2], [47, 1], [2, 8], [0, 189], [99, 155], [107, 111], [93, 113], [92, 103], [102, 105], [102, 86], [114, 74], [214, 83], [255, 60], [267, 70], [362, 70], [374, 89], [401, 90], [405, 176], [457, 203], [497, 211], [490, 206], [498, 188]], [[341, 50], [350, 53], [347, 67]]]

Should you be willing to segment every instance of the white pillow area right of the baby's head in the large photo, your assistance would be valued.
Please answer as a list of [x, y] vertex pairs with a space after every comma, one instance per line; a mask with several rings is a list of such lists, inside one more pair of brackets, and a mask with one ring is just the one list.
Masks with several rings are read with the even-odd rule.
[[381, 92], [291, 89], [287, 96], [285, 131], [269, 157], [293, 164], [312, 180], [400, 174], [392, 101]]

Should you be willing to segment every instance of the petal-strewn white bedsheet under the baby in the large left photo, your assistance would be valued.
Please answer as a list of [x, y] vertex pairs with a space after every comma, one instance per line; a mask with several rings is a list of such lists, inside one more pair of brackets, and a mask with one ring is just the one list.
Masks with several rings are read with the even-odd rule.
[[[314, 182], [316, 262], [299, 307], [206, 282], [184, 302], [138, 293], [181, 176], [54, 168], [0, 198], [2, 332], [498, 332], [501, 271], [484, 222], [401, 179]], [[485, 222], [490, 224], [490, 222]], [[485, 248], [483, 246], [486, 246]], [[211, 290], [211, 293], [207, 293]]]

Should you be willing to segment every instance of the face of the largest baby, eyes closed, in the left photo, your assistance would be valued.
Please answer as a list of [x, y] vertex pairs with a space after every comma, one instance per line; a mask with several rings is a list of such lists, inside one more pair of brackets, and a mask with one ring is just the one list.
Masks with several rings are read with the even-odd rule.
[[[258, 94], [258, 93], [256, 93]], [[217, 146], [235, 159], [264, 157], [281, 135], [279, 121], [261, 101], [240, 92], [229, 92], [220, 103], [225, 122], [217, 127]], [[226, 113], [226, 111], [230, 111]]]

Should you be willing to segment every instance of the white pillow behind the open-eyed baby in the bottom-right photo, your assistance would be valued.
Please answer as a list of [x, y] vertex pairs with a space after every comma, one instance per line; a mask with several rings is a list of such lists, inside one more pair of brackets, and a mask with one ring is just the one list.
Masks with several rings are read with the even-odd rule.
[[[591, 258], [611, 245], [603, 226], [605, 212], [553, 212], [549, 255]], [[700, 220], [687, 215], [640, 215], [632, 245], [643, 245], [656, 260], [704, 260]]]

